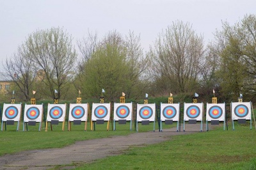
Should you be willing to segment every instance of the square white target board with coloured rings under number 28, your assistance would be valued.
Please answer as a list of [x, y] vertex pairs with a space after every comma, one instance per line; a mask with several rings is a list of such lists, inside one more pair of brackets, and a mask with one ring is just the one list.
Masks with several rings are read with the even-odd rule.
[[156, 104], [137, 104], [137, 121], [155, 121]]

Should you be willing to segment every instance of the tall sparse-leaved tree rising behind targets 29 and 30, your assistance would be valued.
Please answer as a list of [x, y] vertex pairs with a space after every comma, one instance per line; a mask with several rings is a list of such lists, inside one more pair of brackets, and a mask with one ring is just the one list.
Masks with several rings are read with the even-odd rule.
[[[173, 22], [150, 47], [154, 80], [165, 80], [173, 93], [186, 93], [198, 88], [204, 66], [203, 37], [196, 35], [189, 23]], [[167, 89], [167, 90], [168, 90]]]

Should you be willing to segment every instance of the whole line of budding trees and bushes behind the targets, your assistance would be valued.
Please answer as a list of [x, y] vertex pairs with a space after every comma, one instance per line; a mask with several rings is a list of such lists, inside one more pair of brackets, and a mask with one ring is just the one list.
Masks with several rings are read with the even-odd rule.
[[[76, 48], [76, 47], [77, 48]], [[234, 25], [227, 21], [205, 45], [189, 23], [172, 22], [163, 29], [148, 51], [141, 48], [140, 35], [97, 33], [74, 43], [63, 28], [38, 30], [28, 35], [17, 51], [3, 63], [4, 77], [13, 86], [2, 100], [12, 97], [28, 101], [58, 97], [74, 100], [99, 98], [102, 89], [108, 101], [126, 98], [193, 96], [218, 102], [255, 101], [256, 15], [246, 15]], [[55, 93], [55, 89], [58, 93]]]

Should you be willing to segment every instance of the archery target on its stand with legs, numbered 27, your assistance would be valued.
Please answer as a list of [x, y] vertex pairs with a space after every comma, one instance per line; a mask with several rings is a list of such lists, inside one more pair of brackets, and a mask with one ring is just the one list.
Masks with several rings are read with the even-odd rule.
[[114, 103], [114, 130], [116, 130], [116, 121], [119, 125], [125, 125], [130, 121], [130, 130], [132, 130], [132, 102]]

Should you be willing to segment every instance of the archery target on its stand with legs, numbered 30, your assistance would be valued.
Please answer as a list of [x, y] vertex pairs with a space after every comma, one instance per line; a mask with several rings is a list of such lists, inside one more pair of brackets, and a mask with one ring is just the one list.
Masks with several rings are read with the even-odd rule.
[[184, 103], [184, 121], [183, 131], [185, 131], [185, 124], [188, 121], [189, 124], [196, 124], [197, 121], [201, 122], [200, 131], [203, 130], [203, 115], [204, 115], [204, 104], [186, 104]]

